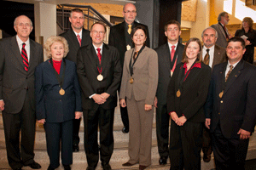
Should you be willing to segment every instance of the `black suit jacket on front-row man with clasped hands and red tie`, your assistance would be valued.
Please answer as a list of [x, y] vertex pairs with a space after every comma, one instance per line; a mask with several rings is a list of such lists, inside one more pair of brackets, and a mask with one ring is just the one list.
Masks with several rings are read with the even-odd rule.
[[110, 94], [107, 101], [101, 105], [103, 109], [112, 109], [117, 105], [117, 89], [121, 81], [121, 65], [117, 48], [103, 44], [102, 49], [102, 76], [101, 82], [97, 80], [99, 63], [95, 48], [92, 44], [79, 48], [78, 76], [82, 88], [82, 104], [85, 110], [95, 110], [99, 105], [90, 99], [92, 94]]

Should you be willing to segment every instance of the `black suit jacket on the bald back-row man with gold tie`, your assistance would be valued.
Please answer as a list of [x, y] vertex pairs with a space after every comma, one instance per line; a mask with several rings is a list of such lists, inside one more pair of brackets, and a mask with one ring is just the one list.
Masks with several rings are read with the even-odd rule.
[[[143, 24], [140, 24], [140, 23], [137, 23], [136, 21], [134, 21], [132, 28], [134, 28], [135, 26], [138, 26], [138, 25], [145, 26]], [[148, 32], [148, 26], [145, 26], [145, 28]], [[109, 33], [109, 37], [108, 37], [108, 45], [112, 45], [113, 47], [118, 48], [120, 63], [123, 68], [125, 52], [126, 52], [125, 21], [116, 26], [112, 26], [110, 28], [110, 33]], [[148, 46], [148, 48], [150, 47], [150, 40], [149, 40], [148, 33], [147, 33], [146, 45]], [[133, 48], [133, 47], [131, 47], [131, 48]]]

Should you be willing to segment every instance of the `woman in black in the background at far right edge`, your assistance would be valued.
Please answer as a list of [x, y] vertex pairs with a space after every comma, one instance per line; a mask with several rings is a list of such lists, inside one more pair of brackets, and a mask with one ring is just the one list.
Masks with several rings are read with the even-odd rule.
[[241, 22], [241, 30], [237, 30], [235, 37], [241, 37], [246, 42], [246, 52], [242, 59], [253, 64], [254, 47], [256, 47], [256, 31], [253, 30], [253, 20], [250, 17], [245, 17]]

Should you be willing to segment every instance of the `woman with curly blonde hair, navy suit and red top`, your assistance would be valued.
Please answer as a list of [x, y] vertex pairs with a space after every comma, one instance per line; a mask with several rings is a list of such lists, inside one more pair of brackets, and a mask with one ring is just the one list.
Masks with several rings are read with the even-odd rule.
[[64, 59], [64, 37], [49, 37], [44, 48], [49, 59], [35, 71], [37, 119], [46, 133], [48, 170], [60, 166], [60, 141], [62, 165], [68, 170], [73, 163], [73, 119], [82, 115], [79, 81], [75, 63]]

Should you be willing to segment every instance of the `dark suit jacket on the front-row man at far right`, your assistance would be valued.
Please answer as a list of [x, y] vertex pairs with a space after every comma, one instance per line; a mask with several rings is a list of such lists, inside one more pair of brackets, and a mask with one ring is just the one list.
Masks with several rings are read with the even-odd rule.
[[253, 132], [256, 122], [256, 67], [241, 61], [231, 72], [222, 99], [227, 62], [216, 65], [205, 106], [206, 117], [211, 118], [211, 132], [220, 122], [225, 138], [237, 139], [239, 129]]

